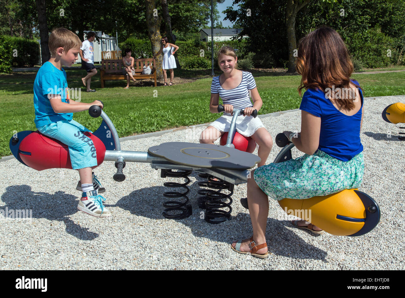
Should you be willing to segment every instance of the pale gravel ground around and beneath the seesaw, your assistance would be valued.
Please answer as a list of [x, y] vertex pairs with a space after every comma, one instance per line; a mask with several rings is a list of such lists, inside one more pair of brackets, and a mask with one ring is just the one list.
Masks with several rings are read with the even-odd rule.
[[[38, 173], [11, 159], [0, 163], [0, 212], [32, 209], [32, 220], [0, 215], [0, 269], [404, 269], [405, 143], [397, 139], [399, 125], [381, 118], [382, 110], [398, 101], [404, 102], [405, 96], [365, 101], [360, 190], [374, 197], [382, 212], [379, 225], [369, 234], [312, 236], [294, 229], [271, 200], [266, 231], [270, 256], [256, 259], [229, 248], [233, 240], [252, 233], [247, 210], [238, 200], [246, 195], [246, 184], [235, 187], [232, 220], [212, 225], [200, 219], [196, 204], [200, 178], [194, 172], [189, 184], [193, 214], [170, 220], [161, 215], [162, 193], [167, 191], [163, 182], [176, 179], [160, 178], [160, 171], [146, 163], [127, 163], [126, 180], [115, 182], [115, 167], [105, 162], [96, 174], [107, 189], [105, 205], [113, 217], [100, 219], [76, 209], [77, 172]], [[301, 123], [299, 111], [262, 121], [273, 137], [285, 129], [298, 130]], [[147, 151], [167, 141], [196, 142], [203, 128], [125, 141], [122, 148]], [[268, 162], [279, 150], [273, 148]]]

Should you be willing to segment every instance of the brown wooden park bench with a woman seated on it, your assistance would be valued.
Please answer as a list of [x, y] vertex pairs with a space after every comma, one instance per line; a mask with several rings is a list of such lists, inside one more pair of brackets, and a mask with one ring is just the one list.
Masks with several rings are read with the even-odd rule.
[[[150, 75], [143, 75], [143, 66], [152, 62], [152, 72]], [[157, 86], [156, 80], [156, 60], [155, 58], [148, 59], [135, 59], [134, 69], [135, 75], [134, 79], [155, 79], [155, 87]], [[125, 68], [122, 63], [122, 59], [111, 60], [111, 59], [102, 59], [101, 60], [101, 88], [104, 88], [105, 81], [107, 80], [122, 80], [126, 79], [126, 75], [122, 74], [122, 69]]]

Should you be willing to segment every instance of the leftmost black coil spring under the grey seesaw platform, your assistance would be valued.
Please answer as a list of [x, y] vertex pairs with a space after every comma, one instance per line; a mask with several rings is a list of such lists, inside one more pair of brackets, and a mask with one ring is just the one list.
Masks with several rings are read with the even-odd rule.
[[[162, 169], [160, 172], [160, 177], [166, 178], [166, 177], [173, 177], [173, 178], [185, 178], [186, 182], [184, 183], [177, 183], [177, 182], [164, 182], [163, 185], [165, 187], [182, 187], [185, 189], [185, 192], [179, 193], [177, 191], [166, 191], [163, 193], [164, 197], [168, 198], [176, 198], [176, 197], [184, 197], [185, 202], [178, 202], [178, 201], [166, 201], [163, 203], [163, 207], [166, 208], [163, 212], [162, 215], [168, 219], [183, 219], [186, 217], [189, 217], [192, 214], [192, 208], [190, 204], [187, 204], [189, 202], [189, 199], [187, 197], [187, 194], [189, 193], [190, 189], [187, 187], [187, 185], [190, 183], [190, 178], [188, 176], [191, 174], [192, 171], [183, 171], [180, 170], [179, 172], [173, 172], [171, 169]], [[172, 210], [179, 210], [181, 211], [180, 213], [175, 213], [175, 214], [168, 214], [169, 211]]]

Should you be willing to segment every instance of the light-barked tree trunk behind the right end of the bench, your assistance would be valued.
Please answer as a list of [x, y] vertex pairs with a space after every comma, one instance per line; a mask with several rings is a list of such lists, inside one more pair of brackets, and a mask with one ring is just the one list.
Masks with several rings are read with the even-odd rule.
[[[146, 6], [146, 25], [148, 28], [148, 36], [151, 40], [151, 47], [152, 47], [152, 54], [156, 55], [156, 53], [160, 50], [160, 40], [162, 39], [162, 35], [160, 35], [160, 19], [159, 16], [153, 16], [156, 11], [156, 1], [155, 0], [145, 0]], [[155, 13], [156, 14], [156, 13]], [[163, 81], [163, 70], [162, 70], [162, 62], [163, 57], [162, 55], [156, 57], [156, 75], [159, 81]]]

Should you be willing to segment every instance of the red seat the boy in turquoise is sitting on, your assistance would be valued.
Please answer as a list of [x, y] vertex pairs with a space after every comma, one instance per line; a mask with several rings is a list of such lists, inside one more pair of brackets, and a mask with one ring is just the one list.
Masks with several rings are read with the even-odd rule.
[[[97, 165], [93, 169], [102, 164], [105, 155], [105, 146], [103, 142], [92, 133], [83, 133], [92, 140], [89, 146], [96, 149]], [[71, 169], [70, 155], [68, 146], [61, 141], [46, 137], [39, 131], [34, 131], [26, 136], [19, 146], [19, 157], [21, 160], [38, 171], [52, 168]]]

